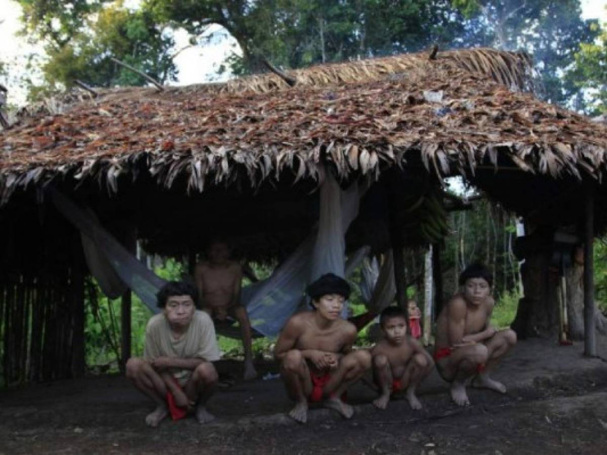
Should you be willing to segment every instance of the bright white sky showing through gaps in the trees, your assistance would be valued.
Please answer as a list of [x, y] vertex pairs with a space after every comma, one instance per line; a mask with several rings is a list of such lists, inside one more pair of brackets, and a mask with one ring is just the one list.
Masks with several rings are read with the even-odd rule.
[[[136, 4], [138, 0], [127, 0], [127, 4]], [[599, 18], [607, 22], [607, 0], [582, 0], [583, 18]], [[32, 75], [26, 68], [26, 56], [30, 53], [42, 55], [41, 46], [27, 44], [24, 38], [17, 36], [21, 27], [19, 5], [13, 0], [0, 0], [0, 59], [10, 65], [11, 78], [8, 82], [8, 102], [22, 105], [25, 93], [18, 90], [18, 80], [23, 75]], [[188, 33], [178, 30], [175, 33], [176, 50], [188, 45]], [[232, 52], [240, 53], [236, 40], [231, 38], [222, 27], [209, 28], [204, 46], [188, 47], [175, 58], [179, 70], [176, 85], [198, 84], [209, 81], [222, 81], [229, 73], [217, 75], [217, 69]]]

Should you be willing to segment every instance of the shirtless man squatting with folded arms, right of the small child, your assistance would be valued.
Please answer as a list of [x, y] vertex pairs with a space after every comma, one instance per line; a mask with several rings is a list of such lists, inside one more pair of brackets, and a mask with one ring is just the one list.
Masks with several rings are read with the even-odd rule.
[[459, 406], [469, 405], [466, 385], [506, 393], [489, 371], [517, 343], [510, 329], [489, 324], [493, 305], [492, 277], [484, 265], [473, 264], [459, 276], [461, 291], [447, 303], [436, 322], [436, 368], [451, 383], [451, 397]]

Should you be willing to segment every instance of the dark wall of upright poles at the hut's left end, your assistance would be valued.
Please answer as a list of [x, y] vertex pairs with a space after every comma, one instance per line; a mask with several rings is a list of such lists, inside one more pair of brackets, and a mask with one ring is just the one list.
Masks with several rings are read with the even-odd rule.
[[84, 373], [80, 236], [60, 219], [41, 221], [0, 228], [0, 387]]

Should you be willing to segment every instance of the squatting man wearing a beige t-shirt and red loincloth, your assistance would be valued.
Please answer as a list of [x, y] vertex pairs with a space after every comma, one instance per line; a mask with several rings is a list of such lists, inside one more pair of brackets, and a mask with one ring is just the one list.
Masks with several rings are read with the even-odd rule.
[[174, 420], [194, 411], [198, 422], [214, 419], [206, 402], [217, 383], [211, 362], [219, 360], [215, 328], [209, 315], [195, 307], [197, 292], [184, 282], [168, 282], [157, 294], [162, 313], [146, 326], [143, 359], [126, 364], [126, 377], [156, 404], [150, 427], [171, 413]]

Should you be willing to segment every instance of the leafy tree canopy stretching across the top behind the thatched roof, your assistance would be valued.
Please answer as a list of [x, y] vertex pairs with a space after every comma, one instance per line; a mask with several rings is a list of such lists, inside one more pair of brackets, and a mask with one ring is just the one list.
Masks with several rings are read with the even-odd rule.
[[555, 104], [582, 109], [580, 93], [588, 84], [580, 78], [601, 84], [601, 47], [592, 44], [600, 28], [582, 19], [580, 0], [141, 0], [135, 10], [122, 0], [18, 1], [27, 32], [46, 43], [42, 70], [50, 87], [74, 79], [144, 84], [110, 56], [170, 81], [176, 68], [168, 30], [183, 27], [200, 36], [212, 24], [222, 25], [242, 49], [228, 61], [237, 75], [265, 70], [264, 58], [299, 68], [433, 44], [483, 45], [531, 53], [539, 95]]

